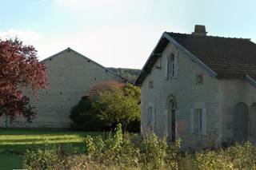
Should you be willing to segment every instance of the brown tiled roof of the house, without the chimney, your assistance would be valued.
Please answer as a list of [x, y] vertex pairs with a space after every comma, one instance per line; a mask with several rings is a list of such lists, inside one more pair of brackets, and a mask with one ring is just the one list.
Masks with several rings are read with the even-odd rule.
[[[192, 34], [168, 34], [175, 42], [198, 57], [206, 66], [217, 73], [217, 78], [243, 79], [246, 75], [256, 80], [256, 44], [250, 39], [221, 38]], [[164, 34], [163, 34], [164, 35]], [[154, 49], [160, 53], [166, 47], [166, 38]], [[160, 50], [159, 50], [160, 49]], [[154, 53], [144, 65], [136, 84], [141, 85], [147, 73], [157, 60]]]

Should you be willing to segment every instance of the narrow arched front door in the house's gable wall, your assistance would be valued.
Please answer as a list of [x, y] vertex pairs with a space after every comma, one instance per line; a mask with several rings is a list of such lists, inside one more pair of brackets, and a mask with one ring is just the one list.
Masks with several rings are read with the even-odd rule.
[[176, 110], [177, 105], [173, 96], [167, 99], [167, 137], [170, 142], [174, 142], [176, 138]]

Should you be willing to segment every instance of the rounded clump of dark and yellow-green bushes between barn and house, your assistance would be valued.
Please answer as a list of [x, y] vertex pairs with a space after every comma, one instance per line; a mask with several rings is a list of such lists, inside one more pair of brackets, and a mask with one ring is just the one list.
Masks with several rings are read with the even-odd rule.
[[105, 81], [95, 85], [70, 113], [71, 128], [110, 131], [119, 123], [123, 129], [139, 132], [140, 89], [130, 84]]

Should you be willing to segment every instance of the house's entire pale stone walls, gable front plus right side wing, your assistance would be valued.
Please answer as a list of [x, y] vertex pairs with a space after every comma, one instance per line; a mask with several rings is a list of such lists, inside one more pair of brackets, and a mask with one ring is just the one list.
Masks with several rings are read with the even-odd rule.
[[[178, 76], [166, 79], [166, 61], [170, 53], [178, 53]], [[202, 76], [202, 83], [197, 83], [197, 75]], [[256, 89], [246, 80], [221, 80], [211, 77], [198, 62], [194, 62], [187, 53], [169, 42], [150, 73], [141, 85], [142, 89], [142, 134], [153, 129], [158, 136], [171, 136], [172, 113], [169, 101], [174, 101], [175, 137], [182, 139], [182, 147], [186, 149], [204, 148], [216, 137], [216, 144], [234, 139], [234, 110], [238, 103], [245, 103], [249, 109], [250, 136], [256, 125]], [[153, 109], [154, 122], [151, 123], [149, 108]], [[194, 131], [195, 109], [202, 109], [206, 132]], [[150, 119], [150, 120], [149, 120]], [[192, 120], [193, 119], [193, 120]], [[150, 124], [149, 124], [150, 121]], [[241, 123], [245, 124], [245, 123]], [[172, 128], [174, 129], [174, 128]], [[170, 130], [171, 131], [171, 130]]]

